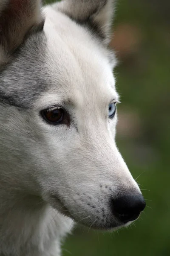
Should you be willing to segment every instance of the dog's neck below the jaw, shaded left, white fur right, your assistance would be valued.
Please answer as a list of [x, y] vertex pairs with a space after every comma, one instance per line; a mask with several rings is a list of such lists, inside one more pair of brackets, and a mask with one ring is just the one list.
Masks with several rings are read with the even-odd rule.
[[38, 196], [0, 185], [0, 256], [59, 256], [73, 222]]

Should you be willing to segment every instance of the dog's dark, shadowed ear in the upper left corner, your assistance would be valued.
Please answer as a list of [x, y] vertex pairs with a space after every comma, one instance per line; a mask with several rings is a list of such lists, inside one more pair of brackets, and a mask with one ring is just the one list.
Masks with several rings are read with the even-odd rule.
[[0, 0], [0, 65], [8, 62], [26, 33], [42, 19], [41, 0]]

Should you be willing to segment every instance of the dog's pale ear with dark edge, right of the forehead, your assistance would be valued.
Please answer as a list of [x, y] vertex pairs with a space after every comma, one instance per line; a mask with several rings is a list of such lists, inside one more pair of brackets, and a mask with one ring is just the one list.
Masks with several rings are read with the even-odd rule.
[[58, 9], [109, 43], [114, 0], [63, 0]]

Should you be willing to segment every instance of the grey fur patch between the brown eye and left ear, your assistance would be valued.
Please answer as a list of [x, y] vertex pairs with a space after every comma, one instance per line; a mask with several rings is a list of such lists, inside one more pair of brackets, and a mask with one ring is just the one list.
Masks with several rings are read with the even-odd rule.
[[45, 61], [45, 34], [29, 34], [12, 55], [11, 62], [0, 71], [0, 104], [31, 108], [32, 103], [47, 89], [42, 69]]

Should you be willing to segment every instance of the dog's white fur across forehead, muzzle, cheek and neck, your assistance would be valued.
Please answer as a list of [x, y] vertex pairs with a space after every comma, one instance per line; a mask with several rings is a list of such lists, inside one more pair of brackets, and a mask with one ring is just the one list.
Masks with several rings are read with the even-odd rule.
[[[119, 100], [108, 51], [56, 6], [43, 12], [48, 90], [25, 112], [0, 105], [0, 256], [59, 256], [72, 219], [105, 229], [110, 198], [140, 193], [108, 120]], [[63, 101], [76, 124], [45, 123], [39, 111]]]

